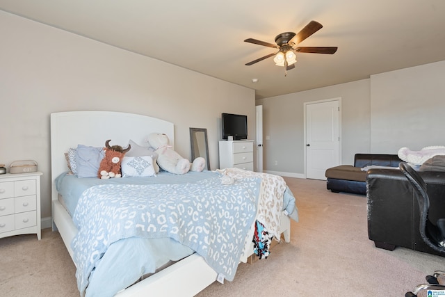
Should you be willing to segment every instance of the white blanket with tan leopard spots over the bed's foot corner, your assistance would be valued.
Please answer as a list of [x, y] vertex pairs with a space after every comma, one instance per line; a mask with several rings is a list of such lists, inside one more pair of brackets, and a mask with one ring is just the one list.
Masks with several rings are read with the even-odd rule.
[[233, 179], [261, 177], [262, 191], [258, 202], [257, 220], [266, 227], [270, 234], [275, 236], [275, 239], [280, 239], [283, 195], [284, 191], [286, 191], [284, 179], [278, 175], [247, 171], [239, 168], [225, 168], [216, 171]]

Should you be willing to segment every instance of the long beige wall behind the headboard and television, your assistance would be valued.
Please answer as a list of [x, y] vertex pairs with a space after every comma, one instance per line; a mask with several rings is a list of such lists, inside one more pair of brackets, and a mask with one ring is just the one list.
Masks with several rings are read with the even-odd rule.
[[211, 169], [219, 166], [221, 113], [248, 115], [255, 136], [254, 90], [1, 11], [0, 40], [0, 163], [38, 161], [47, 220], [52, 112], [124, 111], [168, 120], [186, 158], [189, 127], [207, 128]]

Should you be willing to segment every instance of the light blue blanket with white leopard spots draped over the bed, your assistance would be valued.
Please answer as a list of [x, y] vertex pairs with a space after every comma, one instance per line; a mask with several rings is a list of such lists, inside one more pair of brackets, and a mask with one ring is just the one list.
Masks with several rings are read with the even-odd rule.
[[72, 242], [81, 294], [107, 248], [131, 237], [171, 238], [195, 250], [233, 280], [256, 214], [261, 179], [224, 185], [220, 177], [190, 184], [109, 184], [84, 191], [74, 212]]

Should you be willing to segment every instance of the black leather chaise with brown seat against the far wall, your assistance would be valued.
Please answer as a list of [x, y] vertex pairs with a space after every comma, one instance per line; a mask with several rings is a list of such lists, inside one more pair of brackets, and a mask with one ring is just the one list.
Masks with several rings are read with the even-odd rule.
[[346, 192], [366, 195], [366, 166], [398, 167], [402, 160], [396, 154], [355, 154], [354, 166], [328, 168], [326, 188], [334, 193]]

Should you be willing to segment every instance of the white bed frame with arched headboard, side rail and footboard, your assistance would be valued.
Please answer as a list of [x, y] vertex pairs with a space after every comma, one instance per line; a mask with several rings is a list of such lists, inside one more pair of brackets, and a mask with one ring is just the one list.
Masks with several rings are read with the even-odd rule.
[[[51, 113], [51, 184], [53, 229], [58, 230], [65, 246], [73, 257], [70, 243], [77, 234], [70, 214], [58, 200], [54, 180], [67, 171], [65, 152], [78, 144], [125, 147], [131, 139], [143, 145], [148, 134], [164, 133], [174, 146], [175, 131], [171, 122], [134, 113], [113, 111], [70, 111]], [[281, 228], [286, 242], [290, 241], [290, 220], [282, 216]], [[247, 259], [245, 255], [243, 262]], [[216, 271], [197, 254], [188, 256], [145, 280], [120, 291], [116, 296], [194, 296], [217, 278]]]

